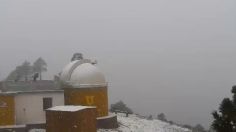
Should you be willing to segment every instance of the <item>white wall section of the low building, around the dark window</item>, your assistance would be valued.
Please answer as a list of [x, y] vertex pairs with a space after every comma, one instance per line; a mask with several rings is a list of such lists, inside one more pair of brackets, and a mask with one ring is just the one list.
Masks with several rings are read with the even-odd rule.
[[15, 97], [16, 124], [45, 123], [43, 98], [51, 97], [52, 105], [64, 105], [63, 92], [21, 93]]

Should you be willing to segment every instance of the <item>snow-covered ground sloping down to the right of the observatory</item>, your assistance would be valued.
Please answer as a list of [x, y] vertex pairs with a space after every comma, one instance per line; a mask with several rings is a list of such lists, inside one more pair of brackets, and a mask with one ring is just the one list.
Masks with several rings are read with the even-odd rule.
[[[119, 128], [109, 130], [99, 129], [98, 132], [191, 132], [186, 128], [170, 125], [156, 119], [143, 119], [137, 115], [125, 117], [123, 114], [118, 114], [117, 119], [120, 125]], [[45, 132], [45, 130], [35, 129], [30, 132]]]

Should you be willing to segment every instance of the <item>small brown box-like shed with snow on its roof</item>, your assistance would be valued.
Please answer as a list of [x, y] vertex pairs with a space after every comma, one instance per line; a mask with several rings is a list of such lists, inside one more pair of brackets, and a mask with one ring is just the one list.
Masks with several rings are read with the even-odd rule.
[[46, 110], [47, 132], [96, 132], [96, 107], [55, 106]]

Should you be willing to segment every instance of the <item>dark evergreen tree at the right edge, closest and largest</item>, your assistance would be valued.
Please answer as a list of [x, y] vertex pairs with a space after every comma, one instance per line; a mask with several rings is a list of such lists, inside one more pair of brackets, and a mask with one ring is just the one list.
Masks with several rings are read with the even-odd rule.
[[233, 86], [233, 99], [225, 98], [220, 104], [219, 112], [212, 113], [212, 128], [216, 132], [236, 132], [236, 86]]

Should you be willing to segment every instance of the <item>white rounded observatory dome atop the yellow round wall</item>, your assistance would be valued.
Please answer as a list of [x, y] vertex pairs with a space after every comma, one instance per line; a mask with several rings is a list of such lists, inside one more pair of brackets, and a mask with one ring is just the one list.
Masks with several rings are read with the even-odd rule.
[[90, 60], [76, 60], [69, 63], [61, 73], [61, 80], [74, 87], [104, 86], [103, 73]]

